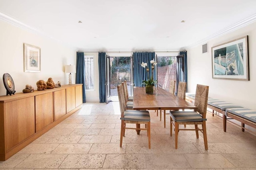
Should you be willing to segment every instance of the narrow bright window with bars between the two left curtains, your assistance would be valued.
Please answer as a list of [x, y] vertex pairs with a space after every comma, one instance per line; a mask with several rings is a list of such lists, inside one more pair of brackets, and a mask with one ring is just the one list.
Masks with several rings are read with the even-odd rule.
[[85, 90], [94, 90], [94, 56], [84, 56]]

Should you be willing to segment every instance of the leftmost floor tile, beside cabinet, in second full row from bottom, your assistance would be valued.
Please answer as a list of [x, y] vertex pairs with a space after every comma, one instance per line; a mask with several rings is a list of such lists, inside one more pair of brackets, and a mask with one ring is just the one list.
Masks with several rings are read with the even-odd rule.
[[52, 143], [31, 143], [22, 150], [19, 154], [50, 154], [59, 144]]

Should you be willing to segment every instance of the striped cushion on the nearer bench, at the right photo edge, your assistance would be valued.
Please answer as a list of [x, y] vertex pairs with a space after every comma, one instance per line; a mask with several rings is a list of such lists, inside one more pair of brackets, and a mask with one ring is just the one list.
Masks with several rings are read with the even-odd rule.
[[231, 108], [226, 109], [226, 115], [227, 112], [232, 113], [234, 115], [238, 115], [240, 117], [243, 117], [245, 119], [248, 119], [250, 121], [253, 121], [256, 123], [256, 111], [251, 109], [246, 109], [244, 107], [237, 107], [237, 108]]

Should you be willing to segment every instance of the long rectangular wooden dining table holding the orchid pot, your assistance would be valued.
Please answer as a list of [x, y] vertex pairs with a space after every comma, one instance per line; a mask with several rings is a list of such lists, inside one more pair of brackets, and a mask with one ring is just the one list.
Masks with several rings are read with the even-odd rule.
[[[133, 109], [134, 110], [163, 110], [164, 111], [164, 127], [166, 110], [194, 109], [197, 107], [178, 96], [171, 94], [163, 88], [154, 87], [153, 94], [146, 94], [145, 87], [133, 88]], [[161, 113], [160, 113], [161, 114]], [[140, 124], [136, 124], [140, 128]], [[140, 134], [140, 130], [137, 130]]]

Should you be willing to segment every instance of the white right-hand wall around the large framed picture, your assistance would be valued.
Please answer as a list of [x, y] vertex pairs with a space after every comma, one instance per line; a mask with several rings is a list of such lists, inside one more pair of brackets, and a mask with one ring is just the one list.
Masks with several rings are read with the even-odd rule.
[[[250, 81], [212, 79], [211, 47], [248, 35]], [[188, 92], [196, 91], [196, 84], [209, 86], [209, 96], [256, 109], [256, 22], [208, 41], [208, 53], [202, 45], [188, 49]]]

